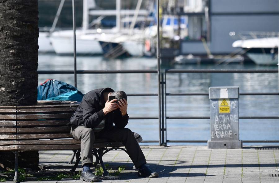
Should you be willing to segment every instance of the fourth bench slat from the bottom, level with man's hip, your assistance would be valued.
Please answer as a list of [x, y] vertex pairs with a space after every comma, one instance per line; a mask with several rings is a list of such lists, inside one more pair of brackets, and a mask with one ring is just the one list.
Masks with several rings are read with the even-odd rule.
[[[17, 133], [55, 133], [55, 132], [60, 132], [60, 133], [70, 133], [70, 128], [69, 126], [60, 126], [60, 127], [35, 127], [35, 128], [17, 128]], [[0, 128], [1, 129], [1, 128]], [[4, 129], [4, 128], [3, 128]], [[1, 133], [1, 131], [0, 131]]]

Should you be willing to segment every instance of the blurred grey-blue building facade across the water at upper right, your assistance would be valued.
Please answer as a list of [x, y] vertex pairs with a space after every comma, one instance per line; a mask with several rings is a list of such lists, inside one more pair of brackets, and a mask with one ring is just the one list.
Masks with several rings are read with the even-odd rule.
[[[209, 0], [208, 6], [206, 44], [212, 54], [235, 51], [232, 43], [241, 32], [279, 32], [279, 0]], [[205, 47], [201, 40], [181, 40], [180, 52], [205, 55]]]

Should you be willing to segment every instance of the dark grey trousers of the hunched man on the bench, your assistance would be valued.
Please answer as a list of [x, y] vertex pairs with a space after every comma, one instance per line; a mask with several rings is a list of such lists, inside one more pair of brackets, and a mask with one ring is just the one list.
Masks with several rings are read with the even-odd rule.
[[93, 143], [96, 138], [107, 138], [111, 141], [122, 142], [125, 146], [128, 155], [133, 161], [136, 168], [146, 163], [143, 152], [141, 151], [139, 144], [137, 143], [134, 134], [128, 128], [113, 127], [110, 130], [102, 130], [98, 133], [94, 133], [93, 129], [86, 128], [84, 126], [78, 126], [75, 129], [71, 129], [71, 134], [76, 140], [80, 140], [80, 152], [82, 166], [84, 164], [93, 164]]

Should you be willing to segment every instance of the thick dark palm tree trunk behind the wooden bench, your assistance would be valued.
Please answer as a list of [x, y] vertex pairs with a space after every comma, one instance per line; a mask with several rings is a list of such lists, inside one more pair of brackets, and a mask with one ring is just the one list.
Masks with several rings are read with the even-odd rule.
[[[0, 1], [0, 105], [37, 104], [38, 36], [38, 0]], [[0, 166], [13, 168], [8, 154], [0, 154]], [[24, 164], [34, 165], [26, 168], [38, 168], [38, 152], [25, 154]]]

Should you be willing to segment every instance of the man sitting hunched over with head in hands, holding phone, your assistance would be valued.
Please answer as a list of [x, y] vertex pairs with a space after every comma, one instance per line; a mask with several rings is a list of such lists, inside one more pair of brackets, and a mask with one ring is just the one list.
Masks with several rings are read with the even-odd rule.
[[[109, 96], [115, 99], [108, 101]], [[148, 168], [143, 152], [128, 123], [127, 95], [124, 91], [101, 88], [86, 93], [70, 119], [71, 134], [80, 140], [82, 173], [81, 180], [98, 181], [90, 167], [93, 165], [93, 143], [96, 138], [107, 138], [122, 142], [136, 168], [139, 177], [158, 177], [157, 172]], [[113, 126], [113, 123], [115, 124]]]

